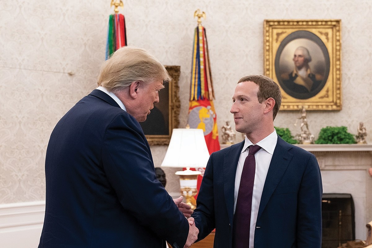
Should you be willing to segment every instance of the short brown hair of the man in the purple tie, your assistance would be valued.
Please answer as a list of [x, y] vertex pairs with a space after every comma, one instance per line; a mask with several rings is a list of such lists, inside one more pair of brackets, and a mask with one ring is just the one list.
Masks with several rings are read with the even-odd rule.
[[257, 93], [257, 98], [259, 103], [272, 97], [275, 100], [275, 106], [273, 108], [273, 119], [275, 119], [276, 114], [279, 111], [280, 104], [282, 104], [282, 93], [280, 93], [280, 88], [277, 83], [275, 83], [271, 78], [264, 75], [249, 75], [240, 78], [238, 83], [251, 81], [259, 86]]

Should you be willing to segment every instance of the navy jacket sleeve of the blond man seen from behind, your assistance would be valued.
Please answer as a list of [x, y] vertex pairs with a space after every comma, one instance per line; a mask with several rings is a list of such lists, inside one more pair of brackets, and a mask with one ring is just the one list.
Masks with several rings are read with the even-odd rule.
[[183, 247], [189, 233], [187, 219], [156, 179], [142, 129], [127, 113], [116, 116], [106, 129], [102, 164], [123, 208], [160, 238]]

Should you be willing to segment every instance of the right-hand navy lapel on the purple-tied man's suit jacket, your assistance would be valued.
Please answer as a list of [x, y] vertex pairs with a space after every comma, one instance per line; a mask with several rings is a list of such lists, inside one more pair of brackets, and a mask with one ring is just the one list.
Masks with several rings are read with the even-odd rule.
[[278, 142], [276, 143], [269, 170], [267, 171], [265, 184], [263, 186], [257, 220], [260, 218], [267, 202], [269, 202], [271, 195], [276, 189], [276, 186], [278, 186], [293, 157], [293, 155], [288, 152], [288, 149], [290, 149], [290, 146], [288, 146], [288, 144], [278, 136]]

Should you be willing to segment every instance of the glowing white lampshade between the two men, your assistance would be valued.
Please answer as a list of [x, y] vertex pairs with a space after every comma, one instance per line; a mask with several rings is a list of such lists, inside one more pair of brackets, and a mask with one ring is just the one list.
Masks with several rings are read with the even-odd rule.
[[175, 128], [162, 167], [205, 167], [209, 152], [202, 129]]

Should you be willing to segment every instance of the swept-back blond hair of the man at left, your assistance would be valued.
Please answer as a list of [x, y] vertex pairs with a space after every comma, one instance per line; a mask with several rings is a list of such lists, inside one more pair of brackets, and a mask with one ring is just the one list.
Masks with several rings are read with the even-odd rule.
[[167, 83], [170, 79], [164, 65], [145, 49], [124, 46], [103, 63], [97, 84], [115, 93], [135, 81]]

